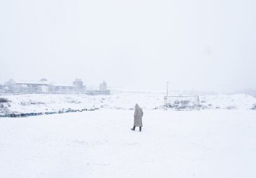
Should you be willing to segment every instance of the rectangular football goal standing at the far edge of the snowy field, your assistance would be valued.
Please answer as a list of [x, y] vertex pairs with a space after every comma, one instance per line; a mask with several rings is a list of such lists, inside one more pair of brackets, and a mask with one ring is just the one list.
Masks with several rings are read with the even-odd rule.
[[164, 96], [164, 110], [200, 110], [198, 95], [169, 95]]

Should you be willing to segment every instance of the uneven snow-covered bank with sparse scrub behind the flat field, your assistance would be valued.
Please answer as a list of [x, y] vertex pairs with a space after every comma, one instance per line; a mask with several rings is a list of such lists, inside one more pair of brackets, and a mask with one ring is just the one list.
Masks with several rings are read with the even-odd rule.
[[[0, 113], [45, 112], [92, 107], [129, 110], [134, 108], [135, 103], [139, 103], [142, 108], [163, 109], [164, 105], [164, 94], [161, 92], [116, 91], [111, 95], [21, 94], [0, 95], [0, 98], [9, 100], [7, 103], [0, 103]], [[175, 103], [176, 100], [177, 98], [168, 102]], [[191, 100], [191, 98], [184, 98], [184, 100]], [[196, 102], [195, 98], [191, 100], [191, 103], [193, 102]], [[249, 110], [254, 107], [256, 110], [256, 98], [246, 94], [200, 95], [200, 105], [206, 110]]]

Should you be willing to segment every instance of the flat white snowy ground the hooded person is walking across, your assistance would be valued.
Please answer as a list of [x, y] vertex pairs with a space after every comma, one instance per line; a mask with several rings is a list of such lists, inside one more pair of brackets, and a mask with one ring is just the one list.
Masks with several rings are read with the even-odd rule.
[[256, 112], [98, 110], [0, 118], [0, 177], [256, 177]]

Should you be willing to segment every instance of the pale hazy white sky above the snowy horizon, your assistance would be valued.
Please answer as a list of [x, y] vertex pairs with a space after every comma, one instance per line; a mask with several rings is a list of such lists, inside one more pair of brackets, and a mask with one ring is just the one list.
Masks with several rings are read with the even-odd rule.
[[256, 87], [256, 1], [0, 0], [0, 83]]

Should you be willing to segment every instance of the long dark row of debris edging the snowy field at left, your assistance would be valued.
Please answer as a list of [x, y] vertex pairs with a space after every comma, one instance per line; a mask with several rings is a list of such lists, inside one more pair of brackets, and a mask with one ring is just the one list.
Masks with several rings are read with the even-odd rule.
[[62, 114], [62, 113], [74, 113], [74, 112], [82, 112], [82, 111], [95, 111], [99, 108], [90, 108], [90, 109], [82, 109], [82, 110], [72, 110], [68, 108], [67, 110], [58, 110], [58, 111], [47, 111], [47, 112], [32, 112], [32, 113], [0, 113], [0, 117], [9, 117], [9, 118], [19, 118], [19, 117], [28, 117], [28, 116], [39, 116], [39, 115], [53, 115], [53, 114]]

